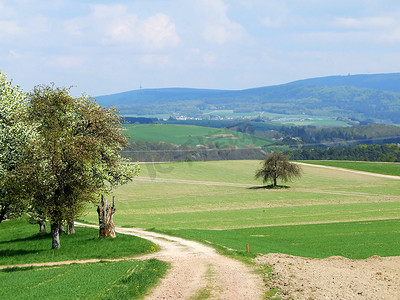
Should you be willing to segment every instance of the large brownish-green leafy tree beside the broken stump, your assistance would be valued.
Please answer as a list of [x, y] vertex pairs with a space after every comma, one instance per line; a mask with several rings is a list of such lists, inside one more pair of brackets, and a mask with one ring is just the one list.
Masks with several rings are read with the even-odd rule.
[[33, 207], [50, 221], [52, 248], [60, 248], [64, 222], [73, 223], [87, 203], [132, 180], [138, 168], [123, 164], [119, 155], [127, 141], [114, 108], [54, 85], [35, 87], [29, 101], [38, 131], [29, 162]]

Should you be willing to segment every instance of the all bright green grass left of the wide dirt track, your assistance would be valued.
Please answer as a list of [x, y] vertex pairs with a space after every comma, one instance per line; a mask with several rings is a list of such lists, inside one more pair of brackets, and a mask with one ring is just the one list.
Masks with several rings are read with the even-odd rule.
[[[133, 257], [156, 250], [134, 236], [99, 239], [98, 231], [76, 229], [52, 250], [51, 236], [23, 219], [0, 224], [0, 265], [90, 258]], [[0, 299], [137, 299], [162, 277], [168, 265], [158, 260], [119, 261], [0, 270]]]

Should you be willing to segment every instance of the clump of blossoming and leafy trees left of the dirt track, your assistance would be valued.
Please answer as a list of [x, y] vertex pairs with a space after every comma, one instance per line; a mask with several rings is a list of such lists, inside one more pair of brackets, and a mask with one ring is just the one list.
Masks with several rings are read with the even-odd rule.
[[29, 211], [60, 248], [65, 222], [138, 173], [119, 154], [121, 132], [114, 108], [54, 85], [26, 94], [0, 73], [0, 222]]

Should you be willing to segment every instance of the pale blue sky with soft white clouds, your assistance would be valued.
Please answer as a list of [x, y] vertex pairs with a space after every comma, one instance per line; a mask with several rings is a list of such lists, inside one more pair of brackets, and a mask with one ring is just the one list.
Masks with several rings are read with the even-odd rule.
[[399, 0], [0, 0], [0, 71], [107, 95], [400, 72]]

